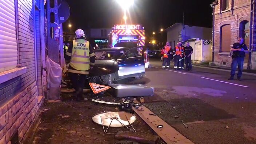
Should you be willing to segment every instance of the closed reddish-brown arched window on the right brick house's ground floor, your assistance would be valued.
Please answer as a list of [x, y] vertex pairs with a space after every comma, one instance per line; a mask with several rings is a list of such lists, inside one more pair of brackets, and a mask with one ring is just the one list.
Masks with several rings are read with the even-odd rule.
[[231, 25], [227, 24], [221, 27], [221, 52], [230, 52], [231, 48]]

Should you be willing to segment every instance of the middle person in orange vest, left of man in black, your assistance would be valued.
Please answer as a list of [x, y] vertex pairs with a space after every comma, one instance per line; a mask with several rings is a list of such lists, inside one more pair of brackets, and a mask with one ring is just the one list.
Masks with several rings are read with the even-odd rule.
[[177, 46], [173, 49], [173, 55], [174, 55], [174, 68], [175, 70], [184, 69], [184, 46], [179, 43], [177, 43]]

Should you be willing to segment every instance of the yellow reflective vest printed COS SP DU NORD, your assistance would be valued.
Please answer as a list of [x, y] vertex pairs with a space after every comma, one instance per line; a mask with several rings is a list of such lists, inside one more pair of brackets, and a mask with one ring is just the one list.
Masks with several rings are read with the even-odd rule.
[[90, 69], [89, 41], [84, 39], [73, 40], [72, 56], [70, 60], [71, 67], [79, 71]]

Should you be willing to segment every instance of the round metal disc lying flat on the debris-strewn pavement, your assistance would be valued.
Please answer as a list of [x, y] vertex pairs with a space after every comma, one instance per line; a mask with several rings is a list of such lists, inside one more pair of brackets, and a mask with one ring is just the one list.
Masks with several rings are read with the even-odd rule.
[[[109, 112], [97, 113], [92, 117], [92, 120], [95, 123], [100, 125], [102, 125], [101, 119], [103, 121], [104, 126], [108, 127], [112, 120], [110, 127], [124, 127], [124, 125], [129, 125], [129, 123], [130, 124], [134, 123], [136, 121], [136, 116], [133, 115], [132, 113], [123, 112], [123, 111], [109, 111]], [[124, 125], [122, 125], [119, 121]]]

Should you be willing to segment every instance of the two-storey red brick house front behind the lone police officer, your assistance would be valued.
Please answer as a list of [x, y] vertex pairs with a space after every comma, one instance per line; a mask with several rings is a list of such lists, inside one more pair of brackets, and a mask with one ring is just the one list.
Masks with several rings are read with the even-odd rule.
[[255, 4], [252, 1], [216, 0], [212, 3], [213, 62], [216, 65], [231, 67], [230, 48], [237, 42], [237, 37], [244, 37], [250, 50], [245, 57], [244, 68], [256, 69], [256, 29], [250, 27], [256, 22]]

